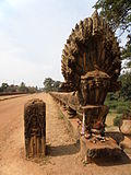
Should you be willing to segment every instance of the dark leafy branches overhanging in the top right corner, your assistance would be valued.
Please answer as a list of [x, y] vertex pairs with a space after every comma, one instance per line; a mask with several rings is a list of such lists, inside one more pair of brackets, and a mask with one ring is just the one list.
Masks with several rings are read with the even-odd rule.
[[98, 0], [95, 9], [109, 22], [112, 30], [129, 31], [131, 26], [131, 0]]

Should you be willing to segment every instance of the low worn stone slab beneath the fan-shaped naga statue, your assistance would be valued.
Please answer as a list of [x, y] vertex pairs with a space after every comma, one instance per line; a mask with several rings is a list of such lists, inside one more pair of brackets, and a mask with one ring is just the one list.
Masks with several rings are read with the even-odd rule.
[[81, 137], [81, 158], [86, 163], [91, 163], [97, 158], [115, 158], [121, 155], [122, 150], [111, 138], [105, 138], [106, 141], [94, 141], [95, 137], [85, 139]]

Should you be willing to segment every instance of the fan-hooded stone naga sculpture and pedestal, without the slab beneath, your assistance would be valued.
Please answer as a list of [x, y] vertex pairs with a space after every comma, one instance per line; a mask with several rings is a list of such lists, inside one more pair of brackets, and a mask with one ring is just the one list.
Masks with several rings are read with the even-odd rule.
[[83, 109], [85, 130], [104, 130], [108, 92], [119, 90], [120, 48], [106, 21], [95, 11], [72, 30], [62, 51], [61, 70], [66, 82], [61, 88], [76, 91]]

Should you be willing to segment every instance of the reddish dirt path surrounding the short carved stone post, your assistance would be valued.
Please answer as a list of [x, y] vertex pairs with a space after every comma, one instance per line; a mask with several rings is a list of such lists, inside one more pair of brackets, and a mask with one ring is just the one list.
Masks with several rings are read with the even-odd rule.
[[[38, 163], [27, 161], [24, 152], [23, 107], [29, 98], [47, 104], [47, 144], [49, 155]], [[131, 164], [86, 166], [81, 162], [75, 141], [70, 137], [60, 110], [49, 94], [34, 94], [0, 102], [0, 175], [131, 175]]]

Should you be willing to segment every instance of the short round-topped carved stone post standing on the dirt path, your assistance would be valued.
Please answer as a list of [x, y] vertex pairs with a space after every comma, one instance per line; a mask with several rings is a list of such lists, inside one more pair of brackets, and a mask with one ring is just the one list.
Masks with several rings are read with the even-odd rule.
[[46, 104], [36, 98], [24, 106], [25, 149], [27, 158], [46, 154]]

